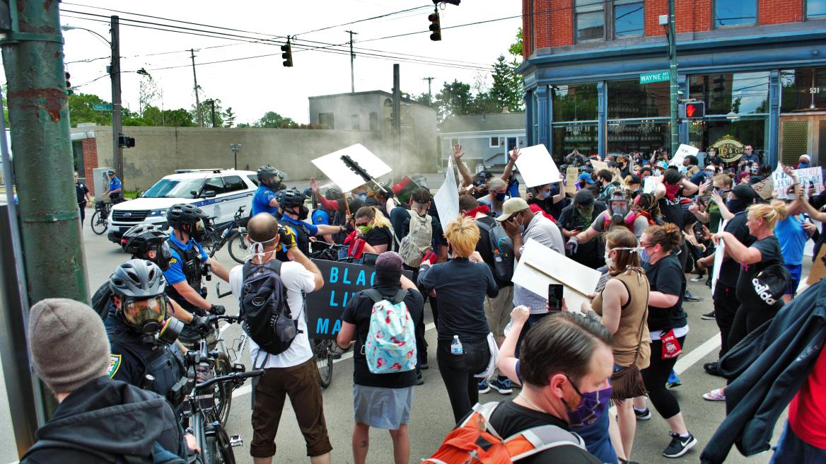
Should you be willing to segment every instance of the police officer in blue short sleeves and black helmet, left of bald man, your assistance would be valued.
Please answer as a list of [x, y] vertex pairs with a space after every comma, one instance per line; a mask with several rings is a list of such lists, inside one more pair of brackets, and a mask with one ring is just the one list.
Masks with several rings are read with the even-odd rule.
[[[164, 271], [169, 282], [166, 293], [183, 309], [198, 316], [207, 315], [207, 311], [224, 314], [224, 306], [212, 305], [205, 300], [207, 288], [202, 287], [202, 277], [208, 271], [229, 282], [230, 273], [215, 259], [209, 257], [202, 249], [198, 240], [203, 239], [204, 220], [207, 215], [197, 206], [178, 203], [169, 207], [166, 220], [173, 234], [169, 237], [169, 269]], [[180, 335], [184, 345], [196, 342], [200, 335], [192, 328], [185, 326]]]

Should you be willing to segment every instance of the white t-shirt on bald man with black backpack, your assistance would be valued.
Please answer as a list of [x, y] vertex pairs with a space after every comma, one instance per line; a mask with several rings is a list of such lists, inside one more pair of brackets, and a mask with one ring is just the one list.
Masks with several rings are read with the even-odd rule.
[[[306, 362], [312, 357], [310, 339], [307, 336], [306, 308], [304, 308], [301, 291], [309, 293], [315, 290], [316, 277], [299, 263], [281, 263], [281, 281], [287, 287], [287, 304], [290, 305], [292, 317], [297, 318], [300, 315], [298, 330], [302, 333], [296, 335], [287, 351], [281, 354], [269, 355], [266, 365], [263, 367], [261, 364], [264, 362], [264, 358], [267, 357], [267, 353], [261, 352], [259, 355], [258, 344], [253, 339], [249, 339], [249, 357], [252, 358], [255, 367], [293, 367], [301, 364], [301, 362]], [[235, 298], [240, 298], [243, 283], [244, 266], [235, 266], [230, 271], [230, 286], [232, 287], [232, 295]]]

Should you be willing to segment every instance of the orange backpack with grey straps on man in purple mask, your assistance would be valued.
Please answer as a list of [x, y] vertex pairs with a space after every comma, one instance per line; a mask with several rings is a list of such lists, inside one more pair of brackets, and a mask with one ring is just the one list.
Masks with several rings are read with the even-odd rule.
[[477, 403], [473, 413], [462, 425], [449, 433], [442, 446], [424, 462], [431, 464], [508, 464], [546, 449], [575, 445], [586, 449], [585, 441], [576, 433], [556, 425], [528, 428], [508, 438], [501, 438], [491, 427], [490, 419], [496, 406], [492, 402]]

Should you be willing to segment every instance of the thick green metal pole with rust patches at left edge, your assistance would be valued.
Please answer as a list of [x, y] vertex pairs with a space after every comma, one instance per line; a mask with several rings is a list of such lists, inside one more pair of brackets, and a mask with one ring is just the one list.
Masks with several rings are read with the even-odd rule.
[[[26, 278], [23, 295], [26, 306], [55, 297], [88, 303], [86, 258], [72, 182], [59, 11], [54, 6], [45, 8], [42, 2], [18, 2], [17, 17], [20, 32], [8, 34], [0, 46], [12, 145], [17, 152], [12, 173], [24, 257], [18, 265], [23, 266]], [[49, 183], [48, 192], [43, 190], [44, 182]], [[27, 313], [24, 322], [26, 317]], [[25, 357], [26, 353], [16, 355]], [[40, 395], [36, 407], [42, 422], [54, 413], [56, 403], [51, 395]]]

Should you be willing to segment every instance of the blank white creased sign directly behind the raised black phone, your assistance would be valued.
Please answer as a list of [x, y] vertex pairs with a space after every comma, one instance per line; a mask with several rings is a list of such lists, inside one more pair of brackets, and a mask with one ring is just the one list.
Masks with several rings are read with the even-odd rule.
[[516, 285], [537, 295], [548, 295], [548, 285], [562, 284], [569, 311], [578, 311], [582, 301], [591, 303], [588, 295], [596, 289], [601, 273], [577, 263], [564, 254], [529, 239], [511, 279]]

